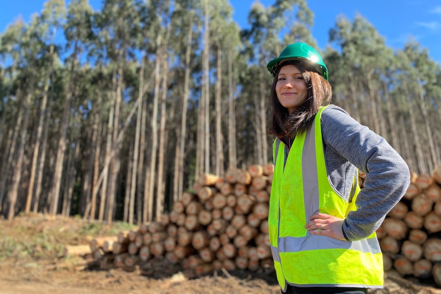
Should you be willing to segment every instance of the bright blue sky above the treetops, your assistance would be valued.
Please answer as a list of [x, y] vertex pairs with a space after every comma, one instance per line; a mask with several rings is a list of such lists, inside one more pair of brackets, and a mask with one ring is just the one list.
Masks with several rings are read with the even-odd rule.
[[[239, 27], [248, 27], [248, 12], [256, 0], [230, 0], [234, 7], [234, 20]], [[0, 0], [0, 32], [21, 16], [28, 22], [38, 13], [46, 0]], [[101, 8], [101, 0], [90, 0], [95, 10]], [[260, 0], [266, 7], [275, 0]], [[343, 14], [353, 19], [358, 12], [382, 35], [387, 46], [402, 49], [409, 37], [429, 50], [429, 55], [441, 64], [441, 1], [440, 0], [307, 0], [314, 12], [313, 37], [320, 49], [328, 43], [328, 32], [337, 16]]]

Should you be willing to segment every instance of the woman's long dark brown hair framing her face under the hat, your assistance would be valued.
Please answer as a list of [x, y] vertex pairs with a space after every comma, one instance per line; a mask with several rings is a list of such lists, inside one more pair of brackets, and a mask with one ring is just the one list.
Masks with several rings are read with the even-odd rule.
[[[276, 84], [280, 69], [292, 64], [302, 73], [303, 79], [306, 83], [307, 98], [297, 107], [292, 114], [289, 113], [288, 108], [283, 107], [277, 98]], [[310, 66], [307, 63], [290, 60], [283, 62], [276, 70], [276, 75], [271, 87], [271, 103], [273, 106], [273, 116], [270, 132], [274, 133], [276, 137], [289, 136], [294, 138], [297, 133], [305, 132], [314, 122], [320, 106], [325, 106], [330, 103], [332, 98], [332, 87], [319, 73], [310, 71]]]

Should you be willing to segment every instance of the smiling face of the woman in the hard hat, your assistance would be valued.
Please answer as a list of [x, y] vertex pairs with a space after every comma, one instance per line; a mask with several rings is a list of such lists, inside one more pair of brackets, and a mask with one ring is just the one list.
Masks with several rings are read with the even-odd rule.
[[288, 64], [280, 69], [276, 83], [277, 99], [290, 114], [305, 102], [307, 88], [302, 73], [295, 65]]

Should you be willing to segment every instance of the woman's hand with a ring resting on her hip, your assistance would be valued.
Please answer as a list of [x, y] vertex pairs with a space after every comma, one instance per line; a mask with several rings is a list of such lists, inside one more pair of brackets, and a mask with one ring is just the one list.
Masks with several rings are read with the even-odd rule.
[[310, 217], [305, 229], [313, 235], [323, 235], [345, 241], [342, 223], [342, 218], [326, 213], [317, 213]]

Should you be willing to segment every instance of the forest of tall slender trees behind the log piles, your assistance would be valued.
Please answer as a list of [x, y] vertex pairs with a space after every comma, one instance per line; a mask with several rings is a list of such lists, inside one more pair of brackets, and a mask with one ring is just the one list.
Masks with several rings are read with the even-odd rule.
[[[203, 173], [272, 161], [267, 62], [311, 34], [306, 0], [48, 0], [0, 34], [0, 215], [151, 221]], [[333, 103], [411, 171], [441, 164], [441, 70], [340, 17], [320, 49]], [[319, 49], [319, 48], [318, 48]]]

